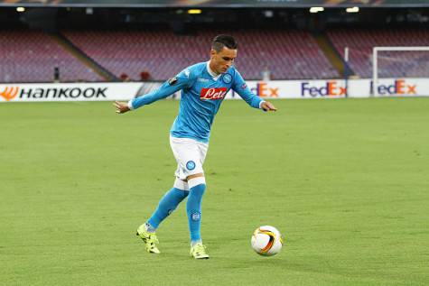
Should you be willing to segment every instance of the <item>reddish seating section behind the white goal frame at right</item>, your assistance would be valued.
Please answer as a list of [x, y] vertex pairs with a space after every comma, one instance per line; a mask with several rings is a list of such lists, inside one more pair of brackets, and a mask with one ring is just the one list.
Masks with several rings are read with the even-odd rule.
[[[350, 49], [350, 68], [360, 78], [372, 77], [372, 48], [374, 46], [429, 46], [429, 30], [395, 29], [360, 30], [339, 29], [327, 32], [335, 48], [344, 57]], [[378, 75], [389, 77], [417, 77], [428, 75], [429, 52], [400, 51], [380, 54]]]

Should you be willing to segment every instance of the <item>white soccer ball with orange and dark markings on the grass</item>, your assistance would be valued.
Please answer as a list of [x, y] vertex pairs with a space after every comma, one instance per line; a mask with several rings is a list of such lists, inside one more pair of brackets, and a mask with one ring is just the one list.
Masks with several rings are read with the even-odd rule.
[[251, 243], [256, 254], [273, 256], [282, 250], [283, 236], [274, 226], [259, 226], [252, 235]]

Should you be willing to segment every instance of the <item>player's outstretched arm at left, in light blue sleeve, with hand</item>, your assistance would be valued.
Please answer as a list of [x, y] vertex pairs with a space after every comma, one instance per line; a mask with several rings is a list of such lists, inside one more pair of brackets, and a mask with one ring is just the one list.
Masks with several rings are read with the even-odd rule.
[[185, 69], [176, 77], [165, 81], [163, 85], [155, 91], [145, 94], [142, 97], [135, 97], [128, 101], [127, 104], [115, 101], [114, 106], [117, 113], [126, 113], [127, 111], [150, 105], [159, 99], [169, 97], [176, 91], [182, 88], [188, 88], [189, 86], [191, 86], [191, 74], [188, 69]]

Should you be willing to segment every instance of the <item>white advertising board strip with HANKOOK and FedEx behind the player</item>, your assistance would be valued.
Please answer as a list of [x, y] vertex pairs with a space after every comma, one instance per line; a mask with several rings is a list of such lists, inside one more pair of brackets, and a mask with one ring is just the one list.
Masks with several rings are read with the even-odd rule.
[[[0, 84], [1, 102], [37, 101], [112, 101], [129, 100], [161, 85], [142, 83], [58, 83]], [[341, 98], [371, 97], [371, 79], [273, 80], [247, 81], [247, 86], [265, 98]], [[179, 97], [179, 93], [176, 95]], [[382, 78], [378, 80], [378, 97], [428, 97], [429, 78]], [[232, 91], [228, 99], [239, 98]]]

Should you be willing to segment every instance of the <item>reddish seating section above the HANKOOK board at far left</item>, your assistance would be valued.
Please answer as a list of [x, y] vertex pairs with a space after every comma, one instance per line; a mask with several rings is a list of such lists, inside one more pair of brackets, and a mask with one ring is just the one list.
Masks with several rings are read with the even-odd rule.
[[1, 82], [51, 82], [55, 67], [61, 81], [102, 81], [44, 32], [0, 31], [0, 42]]

